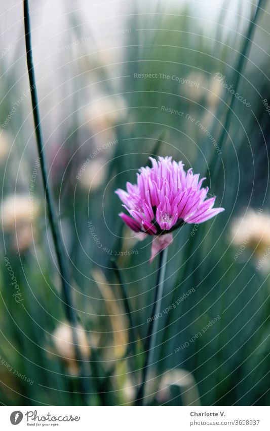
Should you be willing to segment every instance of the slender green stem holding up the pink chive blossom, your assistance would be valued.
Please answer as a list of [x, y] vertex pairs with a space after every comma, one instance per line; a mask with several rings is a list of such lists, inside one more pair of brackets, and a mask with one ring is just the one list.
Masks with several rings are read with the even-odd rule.
[[[162, 250], [159, 253], [159, 268], [158, 268], [157, 284], [155, 289], [155, 300], [153, 302], [153, 308], [152, 308], [152, 316], [159, 314], [161, 310], [167, 254], [168, 254], [168, 248], [166, 248], [165, 250]], [[158, 321], [159, 321], [158, 319], [154, 319], [148, 323], [149, 326], [148, 326], [148, 333], [146, 337], [145, 362], [142, 369], [142, 381], [136, 396], [137, 406], [142, 406], [144, 402], [145, 383], [147, 381], [148, 371], [153, 362], [153, 358], [155, 354]]]

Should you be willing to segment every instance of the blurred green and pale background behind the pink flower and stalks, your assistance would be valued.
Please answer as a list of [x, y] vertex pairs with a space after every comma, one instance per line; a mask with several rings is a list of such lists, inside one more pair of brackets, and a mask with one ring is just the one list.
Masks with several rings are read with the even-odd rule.
[[2, 2], [3, 405], [133, 404], [157, 259], [149, 264], [150, 239], [123, 225], [114, 190], [135, 182], [150, 155], [173, 156], [205, 176], [225, 211], [174, 233], [146, 402], [269, 404], [270, 7], [257, 7], [30, 1], [48, 183], [86, 368], [83, 397], [46, 217], [23, 2]]

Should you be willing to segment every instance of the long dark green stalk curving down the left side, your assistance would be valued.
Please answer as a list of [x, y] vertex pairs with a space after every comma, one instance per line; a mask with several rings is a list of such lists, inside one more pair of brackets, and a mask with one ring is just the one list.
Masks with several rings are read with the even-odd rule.
[[[28, 75], [29, 75], [29, 83], [30, 83], [30, 91], [31, 91], [31, 101], [32, 101], [32, 108], [33, 108], [33, 118], [34, 118], [34, 126], [35, 126], [35, 137], [36, 137], [36, 144], [37, 144], [37, 151], [38, 155], [41, 160], [41, 172], [42, 172], [42, 180], [43, 180], [43, 186], [45, 190], [45, 197], [46, 197], [46, 203], [47, 203], [47, 211], [48, 211], [48, 218], [49, 218], [49, 224], [52, 232], [56, 257], [58, 261], [59, 266], [59, 273], [61, 275], [61, 282], [62, 282], [62, 291], [63, 291], [63, 298], [65, 303], [65, 310], [67, 319], [70, 323], [70, 326], [72, 328], [72, 336], [73, 336], [73, 344], [75, 348], [75, 354], [76, 359], [80, 363], [81, 371], [83, 371], [84, 368], [84, 361], [79, 349], [79, 343], [78, 343], [78, 336], [76, 334], [76, 326], [77, 326], [77, 319], [76, 314], [74, 311], [74, 307], [72, 305], [72, 297], [70, 292], [70, 284], [68, 282], [68, 272], [65, 266], [65, 262], [63, 259], [63, 245], [61, 242], [61, 237], [59, 235], [59, 228], [57, 223], [57, 217], [55, 215], [55, 210], [53, 206], [53, 198], [50, 191], [50, 187], [48, 184], [48, 174], [47, 174], [47, 167], [46, 167], [46, 159], [44, 154], [44, 145], [43, 145], [43, 138], [42, 138], [42, 130], [41, 130], [41, 120], [40, 120], [40, 111], [38, 109], [38, 98], [37, 98], [37, 91], [36, 91], [36, 81], [35, 81], [35, 75], [34, 75], [34, 65], [33, 65], [33, 57], [32, 57], [32, 47], [31, 47], [31, 28], [30, 28], [30, 14], [29, 14], [29, 4], [28, 0], [24, 0], [23, 2], [23, 9], [24, 9], [24, 30], [25, 30], [25, 46], [26, 46], [26, 58], [27, 58], [27, 68], [28, 68]], [[82, 374], [82, 394], [86, 396], [86, 387], [84, 383], [85, 374], [84, 372]]]

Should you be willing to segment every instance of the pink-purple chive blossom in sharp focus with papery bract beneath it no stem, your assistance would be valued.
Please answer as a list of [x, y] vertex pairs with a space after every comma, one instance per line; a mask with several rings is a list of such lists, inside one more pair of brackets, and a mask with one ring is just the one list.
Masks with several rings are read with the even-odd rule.
[[153, 236], [151, 258], [172, 243], [171, 232], [184, 223], [202, 223], [224, 208], [213, 208], [215, 197], [207, 199], [205, 178], [192, 169], [187, 172], [181, 161], [172, 157], [149, 157], [152, 167], [137, 174], [137, 184], [127, 182], [127, 191], [118, 189], [123, 207], [129, 215], [120, 213], [122, 220], [134, 231]]

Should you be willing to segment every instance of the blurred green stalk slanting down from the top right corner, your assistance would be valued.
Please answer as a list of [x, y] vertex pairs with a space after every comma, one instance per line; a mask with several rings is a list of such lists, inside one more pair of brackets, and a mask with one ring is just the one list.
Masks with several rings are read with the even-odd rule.
[[[243, 44], [243, 49], [241, 51], [241, 55], [239, 56], [237, 64], [236, 64], [236, 68], [235, 68], [235, 70], [236, 70], [236, 82], [234, 85], [235, 94], [238, 92], [240, 79], [242, 77], [242, 73], [244, 71], [244, 68], [245, 68], [245, 65], [246, 65], [246, 62], [248, 59], [249, 51], [251, 48], [251, 43], [253, 40], [253, 36], [254, 36], [255, 28], [256, 28], [256, 23], [258, 21], [260, 11], [263, 9], [263, 3], [264, 2], [265, 2], [265, 0], [259, 0], [259, 2], [258, 2], [254, 18], [249, 23], [249, 27], [248, 27], [248, 31], [247, 31], [247, 35], [246, 35], [244, 44]], [[222, 127], [221, 135], [220, 135], [220, 138], [218, 140], [220, 149], [223, 147], [225, 140], [226, 140], [226, 137], [227, 137], [227, 134], [228, 134], [228, 130], [229, 130], [230, 122], [232, 120], [233, 108], [234, 108], [235, 103], [236, 103], [236, 97], [234, 94], [232, 94], [232, 96], [230, 98], [229, 108], [228, 108], [227, 113], [226, 113], [224, 127]], [[211, 173], [213, 173], [212, 178], [214, 178], [215, 174], [218, 172], [219, 167], [220, 167], [220, 163], [221, 163], [220, 157], [218, 157], [218, 160], [216, 160], [216, 156], [213, 155], [212, 160], [209, 164], [210, 175], [211, 175]]]

